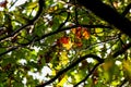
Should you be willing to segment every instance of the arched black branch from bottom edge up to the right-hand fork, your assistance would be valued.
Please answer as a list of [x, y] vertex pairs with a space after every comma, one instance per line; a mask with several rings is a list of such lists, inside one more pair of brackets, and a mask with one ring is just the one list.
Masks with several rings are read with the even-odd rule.
[[70, 64], [68, 67], [66, 67], [66, 69], [61, 70], [60, 72], [58, 72], [58, 74], [57, 74], [53, 78], [51, 78], [50, 80], [48, 80], [48, 82], [46, 82], [46, 83], [44, 83], [44, 84], [41, 84], [41, 85], [39, 85], [39, 86], [36, 86], [36, 87], [44, 87], [44, 86], [46, 86], [46, 85], [51, 84], [51, 83], [55, 82], [60, 75], [62, 75], [62, 74], [66, 73], [67, 71], [71, 70], [71, 69], [74, 67], [76, 64], [79, 64], [80, 62], [82, 62], [83, 60], [85, 60], [85, 59], [87, 59], [87, 58], [93, 58], [93, 59], [97, 60], [97, 61], [100, 62], [100, 63], [104, 62], [104, 60], [100, 59], [100, 58], [97, 57], [97, 55], [86, 54], [86, 55], [80, 58], [79, 60], [76, 60], [75, 62], [73, 62], [72, 64]]

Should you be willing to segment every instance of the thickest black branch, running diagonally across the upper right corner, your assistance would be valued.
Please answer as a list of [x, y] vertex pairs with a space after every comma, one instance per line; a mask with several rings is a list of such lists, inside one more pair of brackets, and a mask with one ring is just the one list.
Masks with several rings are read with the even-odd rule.
[[103, 3], [100, 0], [78, 0], [78, 2], [131, 37], [129, 30], [131, 29], [131, 22], [109, 5]]

